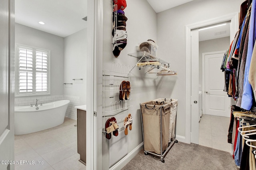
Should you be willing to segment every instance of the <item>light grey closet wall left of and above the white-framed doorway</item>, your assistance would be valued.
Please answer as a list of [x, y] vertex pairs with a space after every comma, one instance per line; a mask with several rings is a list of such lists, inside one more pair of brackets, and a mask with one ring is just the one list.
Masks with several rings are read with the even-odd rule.
[[194, 0], [157, 14], [158, 56], [170, 61], [170, 69], [177, 71], [178, 76], [163, 77], [156, 97], [178, 99], [178, 136], [185, 136], [185, 26], [240, 12], [242, 2], [244, 0]]

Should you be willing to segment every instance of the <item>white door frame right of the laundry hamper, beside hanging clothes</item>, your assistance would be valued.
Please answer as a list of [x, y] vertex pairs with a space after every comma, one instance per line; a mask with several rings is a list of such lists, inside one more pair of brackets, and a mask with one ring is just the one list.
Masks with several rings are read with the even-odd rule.
[[[192, 70], [191, 70], [191, 30], [196, 29], [196, 28], [201, 28], [201, 27], [205, 27], [205, 26], [210, 26], [212, 24], [219, 24], [222, 22], [230, 22], [230, 42], [232, 41], [232, 39], [234, 38], [236, 31], [238, 30], [238, 16], [239, 13], [234, 13], [234, 14], [230, 14], [227, 16], [222, 16], [222, 17], [218, 17], [218, 18], [214, 18], [211, 20], [206, 20], [206, 21], [202, 21], [202, 22], [198, 22], [195, 24], [190, 24], [185, 26], [185, 55], [186, 55], [186, 70], [185, 70], [185, 75], [186, 75], [186, 83], [185, 83], [185, 110], [186, 110], [186, 115], [185, 115], [185, 119], [186, 119], [186, 125], [185, 125], [185, 142], [186, 143], [190, 143], [191, 141], [191, 125], [194, 123], [198, 123], [198, 121], [196, 122], [192, 122], [191, 121], [191, 117], [192, 116], [197, 116], [195, 115], [195, 113], [192, 113], [191, 111], [191, 78], [192, 78]], [[198, 56], [199, 57], [199, 56]], [[198, 130], [198, 129], [197, 129]], [[193, 133], [194, 134], [194, 133]]]

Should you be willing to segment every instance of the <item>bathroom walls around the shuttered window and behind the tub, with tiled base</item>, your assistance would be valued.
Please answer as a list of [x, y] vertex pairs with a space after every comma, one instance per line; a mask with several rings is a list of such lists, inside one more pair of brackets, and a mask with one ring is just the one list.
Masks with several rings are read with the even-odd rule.
[[[51, 52], [50, 95], [15, 97], [15, 106], [70, 100], [66, 117], [76, 120], [75, 106], [86, 104], [86, 29], [66, 38], [15, 24], [15, 43], [49, 49]], [[72, 80], [83, 78], [83, 80]], [[73, 83], [64, 85], [63, 83]], [[80, 101], [81, 100], [81, 101]]]

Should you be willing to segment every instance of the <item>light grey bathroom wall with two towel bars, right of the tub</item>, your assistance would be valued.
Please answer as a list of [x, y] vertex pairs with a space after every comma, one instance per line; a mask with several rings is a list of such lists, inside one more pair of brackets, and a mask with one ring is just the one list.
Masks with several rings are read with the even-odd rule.
[[[80, 97], [86, 105], [87, 28], [64, 38], [64, 95]], [[83, 80], [72, 80], [83, 79]]]

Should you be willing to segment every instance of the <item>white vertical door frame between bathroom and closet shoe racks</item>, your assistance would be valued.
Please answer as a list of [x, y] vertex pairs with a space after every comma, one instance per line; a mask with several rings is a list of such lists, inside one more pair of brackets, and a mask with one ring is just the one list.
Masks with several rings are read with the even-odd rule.
[[102, 169], [103, 0], [88, 0], [86, 169]]

